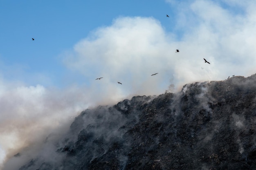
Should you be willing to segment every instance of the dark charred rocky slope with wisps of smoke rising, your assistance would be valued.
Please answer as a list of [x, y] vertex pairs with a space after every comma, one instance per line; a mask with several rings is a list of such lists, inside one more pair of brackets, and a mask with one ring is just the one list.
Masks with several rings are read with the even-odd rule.
[[85, 110], [42, 150], [19, 170], [255, 170], [256, 75]]

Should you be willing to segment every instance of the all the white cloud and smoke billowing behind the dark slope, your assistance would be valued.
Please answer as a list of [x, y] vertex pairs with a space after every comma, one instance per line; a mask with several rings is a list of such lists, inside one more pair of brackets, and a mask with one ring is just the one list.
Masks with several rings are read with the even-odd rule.
[[[186, 83], [256, 72], [254, 1], [168, 2], [173, 10], [179, 9], [177, 18], [170, 18], [176, 21], [170, 21], [171, 31], [152, 17], [119, 17], [63, 54], [65, 65], [84, 75], [86, 85], [58, 89], [1, 79], [0, 158], [45, 139], [52, 128], [69, 124], [88, 106], [112, 105], [133, 95], [159, 95], [166, 89], [180, 91]], [[205, 65], [204, 57], [210, 65]], [[159, 74], [151, 77], [153, 73]], [[95, 81], [99, 76], [104, 78]], [[204, 98], [200, 102], [209, 109]], [[233, 119], [234, 127], [243, 128], [245, 117], [234, 114]]]

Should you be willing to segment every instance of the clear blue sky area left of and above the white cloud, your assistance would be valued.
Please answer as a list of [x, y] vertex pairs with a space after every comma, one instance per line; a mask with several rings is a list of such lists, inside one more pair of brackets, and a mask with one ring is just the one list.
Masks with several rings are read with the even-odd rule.
[[[67, 76], [72, 77], [70, 82], [83, 83], [78, 73], [73, 74], [63, 65], [59, 57], [63, 51], [72, 49], [90, 31], [110, 25], [119, 16], [154, 17], [171, 28], [171, 11], [164, 0], [1, 1], [3, 76], [28, 85], [63, 86]], [[171, 16], [169, 22], [167, 13]], [[38, 75], [47, 77], [47, 81], [37, 79]]]

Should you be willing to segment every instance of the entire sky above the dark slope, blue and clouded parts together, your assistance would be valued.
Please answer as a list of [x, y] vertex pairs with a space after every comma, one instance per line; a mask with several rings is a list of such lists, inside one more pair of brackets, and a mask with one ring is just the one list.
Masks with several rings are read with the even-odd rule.
[[0, 164], [86, 108], [255, 74], [255, 9], [254, 0], [1, 0]]

